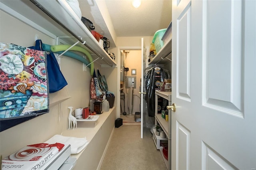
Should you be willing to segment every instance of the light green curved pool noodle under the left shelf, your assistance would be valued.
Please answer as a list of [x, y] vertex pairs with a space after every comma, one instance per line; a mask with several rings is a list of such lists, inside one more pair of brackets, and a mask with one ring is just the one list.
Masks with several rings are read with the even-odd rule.
[[[52, 45], [51, 46], [51, 50], [52, 52], [55, 52], [55, 51], [65, 51], [66, 49], [68, 49], [69, 47], [71, 47], [72, 45]], [[82, 52], [86, 55], [86, 57], [88, 57], [89, 61], [90, 61], [90, 65], [91, 65], [91, 68], [90, 68], [90, 74], [93, 75], [93, 72], [94, 72], [94, 63], [92, 63], [92, 56], [91, 54], [84, 48], [82, 47], [78, 47], [78, 46], [74, 46], [72, 48], [70, 48], [69, 50], [71, 51], [79, 51], [79, 52]]]

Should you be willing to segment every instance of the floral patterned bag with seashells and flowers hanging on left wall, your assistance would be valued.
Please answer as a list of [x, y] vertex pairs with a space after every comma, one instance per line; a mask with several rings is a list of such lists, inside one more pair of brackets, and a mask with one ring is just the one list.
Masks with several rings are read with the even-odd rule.
[[48, 113], [48, 93], [46, 53], [0, 43], [0, 130]]

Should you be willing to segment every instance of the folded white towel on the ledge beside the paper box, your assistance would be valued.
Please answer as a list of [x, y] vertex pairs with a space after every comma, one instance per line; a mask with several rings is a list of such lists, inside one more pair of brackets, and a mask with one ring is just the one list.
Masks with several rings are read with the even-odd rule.
[[46, 141], [46, 143], [62, 143], [64, 145], [71, 146], [71, 154], [78, 154], [81, 152], [87, 145], [88, 140], [86, 140], [86, 137], [84, 138], [76, 138], [76, 137], [69, 137], [69, 136], [62, 136], [59, 134], [56, 134], [52, 136], [49, 140]]

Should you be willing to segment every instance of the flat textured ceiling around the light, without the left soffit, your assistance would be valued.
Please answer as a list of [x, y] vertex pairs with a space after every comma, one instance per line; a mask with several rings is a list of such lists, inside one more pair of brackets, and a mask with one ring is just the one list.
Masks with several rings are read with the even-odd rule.
[[105, 0], [117, 37], [154, 36], [172, 20], [171, 0], [142, 0], [134, 8], [132, 0]]

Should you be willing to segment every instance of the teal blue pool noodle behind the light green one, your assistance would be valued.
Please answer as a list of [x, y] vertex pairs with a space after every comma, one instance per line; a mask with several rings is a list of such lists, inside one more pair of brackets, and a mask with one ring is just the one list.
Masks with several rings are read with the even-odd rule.
[[[42, 50], [43, 51], [48, 51], [48, 52], [51, 52], [53, 53], [53, 51], [51, 50], [51, 45], [48, 45], [48, 44], [45, 44], [45, 43], [42, 43]], [[64, 51], [56, 51], [54, 53], [57, 53], [57, 54], [61, 54], [63, 53]], [[88, 65], [89, 62], [82, 56], [76, 54], [76, 53], [73, 53], [71, 51], [67, 51], [66, 53], [64, 53], [63, 55], [67, 56], [67, 57], [71, 57], [71, 58], [74, 58], [74, 59], [77, 59], [83, 63], [85, 63], [85, 65]], [[88, 65], [88, 67], [91, 67], [91, 65]]]

